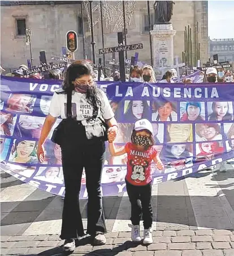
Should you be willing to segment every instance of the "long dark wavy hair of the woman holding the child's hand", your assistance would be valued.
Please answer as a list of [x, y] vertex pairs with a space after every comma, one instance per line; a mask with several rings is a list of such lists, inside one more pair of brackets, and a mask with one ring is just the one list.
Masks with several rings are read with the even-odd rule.
[[[81, 60], [73, 62], [64, 74], [63, 81], [63, 94], [67, 94], [70, 91], [75, 89], [73, 81], [76, 78], [80, 78], [83, 75], [94, 75], [93, 68], [88, 61]], [[59, 94], [59, 93], [58, 93]], [[97, 109], [98, 106], [101, 106], [101, 100], [99, 99], [99, 92], [95, 85], [88, 86], [88, 91], [86, 93], [86, 99], [89, 104], [93, 106], [94, 109]]]

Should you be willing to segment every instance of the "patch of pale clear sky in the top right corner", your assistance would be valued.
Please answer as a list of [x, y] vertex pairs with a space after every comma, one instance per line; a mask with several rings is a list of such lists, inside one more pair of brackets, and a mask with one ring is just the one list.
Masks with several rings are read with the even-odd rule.
[[234, 1], [208, 1], [210, 39], [234, 38]]

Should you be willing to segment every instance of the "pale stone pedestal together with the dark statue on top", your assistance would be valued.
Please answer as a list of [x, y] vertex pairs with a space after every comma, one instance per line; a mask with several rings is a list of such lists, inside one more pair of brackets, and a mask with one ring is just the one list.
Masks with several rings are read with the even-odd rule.
[[170, 22], [174, 1], [155, 1], [153, 37], [154, 70], [156, 75], [164, 74], [174, 66], [174, 36], [176, 30]]

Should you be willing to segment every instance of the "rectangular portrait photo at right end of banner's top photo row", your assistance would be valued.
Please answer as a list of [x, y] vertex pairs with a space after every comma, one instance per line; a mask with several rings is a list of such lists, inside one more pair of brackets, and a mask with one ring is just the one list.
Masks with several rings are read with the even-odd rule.
[[233, 120], [232, 102], [207, 102], [207, 111], [210, 121]]

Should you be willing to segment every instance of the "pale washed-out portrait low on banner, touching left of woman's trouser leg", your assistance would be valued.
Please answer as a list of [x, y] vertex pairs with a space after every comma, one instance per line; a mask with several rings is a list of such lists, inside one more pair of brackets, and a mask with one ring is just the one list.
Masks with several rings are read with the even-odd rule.
[[[43, 168], [43, 167], [42, 167]], [[59, 178], [60, 167], [49, 166], [46, 167], [44, 171], [40, 175], [34, 176], [34, 179], [38, 179], [38, 181], [45, 181], [54, 184], [63, 184], [62, 179]]]

